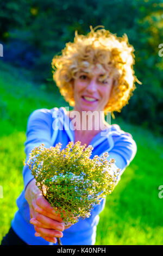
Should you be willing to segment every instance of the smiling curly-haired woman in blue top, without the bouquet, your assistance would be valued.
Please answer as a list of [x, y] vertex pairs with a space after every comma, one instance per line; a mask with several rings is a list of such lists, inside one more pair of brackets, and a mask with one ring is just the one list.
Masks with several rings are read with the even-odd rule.
[[[86, 36], [76, 33], [74, 42], [66, 44], [61, 56], [55, 56], [52, 62], [60, 93], [74, 108], [37, 109], [30, 114], [27, 159], [41, 143], [49, 148], [60, 142], [65, 148], [70, 141], [80, 141], [92, 145], [91, 157], [108, 151], [108, 160], [114, 158], [115, 168], [123, 173], [136, 154], [136, 143], [118, 125], [108, 124], [105, 114], [109, 111], [114, 117], [114, 111], [121, 112], [135, 89], [135, 81], [139, 82], [133, 71], [133, 51], [126, 35], [118, 38], [105, 29], [95, 31], [92, 27]], [[36, 187], [28, 166], [23, 168], [23, 179], [18, 211], [3, 245], [49, 245], [57, 242], [56, 237], [62, 237], [63, 245], [95, 244], [98, 215], [105, 199], [95, 206], [89, 218], [65, 225]]]

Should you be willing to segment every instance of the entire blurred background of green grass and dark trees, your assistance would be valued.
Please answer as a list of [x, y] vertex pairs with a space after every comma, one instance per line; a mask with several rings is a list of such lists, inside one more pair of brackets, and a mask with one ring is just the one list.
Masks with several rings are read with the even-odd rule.
[[[111, 123], [131, 133], [137, 154], [100, 214], [96, 245], [163, 244], [163, 1], [8, 0], [0, 3], [0, 240], [23, 190], [29, 114], [69, 106], [52, 80], [51, 62], [74, 32], [102, 25], [127, 34], [142, 82]], [[70, 109], [72, 109], [70, 107]], [[163, 186], [162, 186], [163, 187]]]

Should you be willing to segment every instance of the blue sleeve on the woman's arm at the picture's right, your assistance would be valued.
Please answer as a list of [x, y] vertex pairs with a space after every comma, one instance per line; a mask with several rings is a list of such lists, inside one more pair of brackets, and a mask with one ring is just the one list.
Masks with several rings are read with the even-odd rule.
[[136, 151], [137, 145], [130, 133], [122, 133], [115, 141], [114, 147], [108, 152], [108, 160], [115, 159], [114, 167], [120, 168], [120, 175], [122, 175], [123, 171], [134, 159]]

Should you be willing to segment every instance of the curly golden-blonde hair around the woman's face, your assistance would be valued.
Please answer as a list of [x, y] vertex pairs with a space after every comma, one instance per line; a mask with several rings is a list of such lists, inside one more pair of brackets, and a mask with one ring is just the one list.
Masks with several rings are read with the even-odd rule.
[[[102, 29], [96, 28], [102, 27]], [[53, 80], [59, 87], [64, 99], [74, 106], [72, 81], [76, 79], [78, 71], [90, 72], [93, 66], [98, 65], [105, 74], [114, 78], [111, 94], [104, 108], [104, 113], [121, 112], [123, 106], [128, 104], [135, 82], [141, 84], [134, 75], [133, 65], [134, 48], [128, 42], [127, 35], [117, 37], [103, 26], [92, 28], [87, 35], [78, 35], [75, 32], [74, 42], [68, 42], [60, 56], [52, 60]]]

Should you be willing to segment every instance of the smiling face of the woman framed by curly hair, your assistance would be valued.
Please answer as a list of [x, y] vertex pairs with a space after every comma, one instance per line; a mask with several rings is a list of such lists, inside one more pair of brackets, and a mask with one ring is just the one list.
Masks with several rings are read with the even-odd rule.
[[75, 111], [104, 111], [112, 89], [112, 77], [105, 76], [95, 66], [92, 72], [84, 70], [77, 73], [73, 81]]

